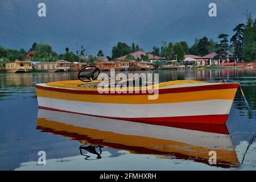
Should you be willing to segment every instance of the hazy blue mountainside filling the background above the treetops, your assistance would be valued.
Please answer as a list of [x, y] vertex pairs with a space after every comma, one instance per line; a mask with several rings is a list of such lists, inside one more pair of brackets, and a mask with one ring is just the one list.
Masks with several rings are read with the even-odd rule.
[[[246, 10], [256, 18], [255, 0], [44, 0], [46, 17], [38, 16], [40, 0], [0, 0], [0, 45], [29, 49], [34, 42], [48, 43], [61, 53], [65, 47], [96, 55], [111, 55], [122, 41], [139, 44], [145, 51], [162, 40], [185, 40], [221, 33], [233, 35], [245, 23]], [[209, 3], [217, 5], [217, 17], [209, 17]], [[217, 40], [217, 39], [216, 39]]]

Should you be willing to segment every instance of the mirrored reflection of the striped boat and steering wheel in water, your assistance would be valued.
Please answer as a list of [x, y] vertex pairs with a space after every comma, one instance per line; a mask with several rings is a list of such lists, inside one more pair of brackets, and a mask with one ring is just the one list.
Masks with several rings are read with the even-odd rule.
[[217, 164], [214, 166], [239, 165], [225, 125], [172, 123], [172, 126], [160, 126], [39, 109], [37, 129], [78, 140], [78, 150], [86, 160], [101, 159], [102, 150], [108, 147], [205, 164], [209, 164], [209, 152], [215, 151]]

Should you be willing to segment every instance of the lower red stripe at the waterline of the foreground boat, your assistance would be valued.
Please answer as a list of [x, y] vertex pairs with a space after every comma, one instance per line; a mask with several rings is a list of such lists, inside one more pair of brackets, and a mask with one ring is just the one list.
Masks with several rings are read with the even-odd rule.
[[54, 109], [54, 108], [43, 107], [43, 106], [39, 106], [39, 109], [60, 111], [60, 112], [72, 113], [72, 114], [88, 115], [92, 117], [141, 122], [141, 123], [148, 123], [152, 125], [163, 125], [163, 126], [171, 126], [172, 123], [206, 123], [206, 124], [225, 125], [226, 119], [228, 119], [228, 114], [192, 115], [192, 116], [181, 116], [181, 117], [156, 117], [156, 118], [119, 118], [119, 117], [108, 117], [108, 116], [85, 114], [85, 113], [76, 113], [73, 111]]

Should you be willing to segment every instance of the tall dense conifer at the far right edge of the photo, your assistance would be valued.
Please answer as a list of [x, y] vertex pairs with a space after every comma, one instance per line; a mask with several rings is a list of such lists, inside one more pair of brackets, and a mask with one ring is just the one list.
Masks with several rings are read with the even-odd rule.
[[242, 59], [253, 61], [256, 58], [256, 19], [247, 13], [247, 23], [243, 32]]

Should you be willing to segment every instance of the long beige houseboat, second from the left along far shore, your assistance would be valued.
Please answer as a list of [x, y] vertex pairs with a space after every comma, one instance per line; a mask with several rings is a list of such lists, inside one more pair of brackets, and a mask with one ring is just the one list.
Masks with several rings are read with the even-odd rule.
[[67, 72], [70, 69], [71, 62], [68, 61], [58, 61], [49, 63], [37, 63], [35, 66], [36, 70], [46, 71], [46, 72]]

